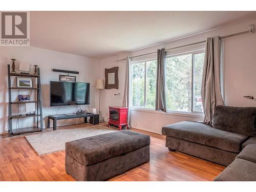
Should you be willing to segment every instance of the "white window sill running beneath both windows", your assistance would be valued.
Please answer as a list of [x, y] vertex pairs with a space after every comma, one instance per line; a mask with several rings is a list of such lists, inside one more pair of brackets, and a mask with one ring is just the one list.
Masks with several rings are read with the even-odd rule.
[[203, 113], [191, 113], [191, 112], [182, 112], [182, 111], [170, 111], [168, 110], [167, 113], [164, 113], [162, 111], [155, 111], [154, 109], [149, 108], [135, 108], [131, 107], [131, 111], [140, 111], [145, 113], [156, 113], [156, 114], [162, 114], [162, 115], [177, 115], [177, 116], [185, 116], [185, 117], [197, 117], [197, 118], [203, 118]]

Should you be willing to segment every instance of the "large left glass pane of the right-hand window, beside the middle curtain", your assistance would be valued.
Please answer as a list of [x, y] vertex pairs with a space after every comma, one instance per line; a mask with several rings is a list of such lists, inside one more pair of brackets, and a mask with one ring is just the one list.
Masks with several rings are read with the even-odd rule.
[[167, 58], [166, 104], [168, 110], [191, 111], [191, 54]]

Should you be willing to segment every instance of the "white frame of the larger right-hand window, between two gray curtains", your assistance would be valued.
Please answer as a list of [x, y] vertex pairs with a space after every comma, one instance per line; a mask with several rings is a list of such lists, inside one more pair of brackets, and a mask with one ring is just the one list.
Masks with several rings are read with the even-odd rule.
[[[195, 75], [195, 55], [205, 53], [205, 49], [199, 49], [194, 51], [188, 51], [177, 54], [167, 54], [166, 59], [170, 57], [177, 57], [182, 55], [191, 54], [191, 111], [179, 111], [179, 110], [168, 110], [169, 113], [182, 113], [182, 114], [195, 114], [195, 115], [204, 115], [202, 111], [194, 111], [194, 75]], [[167, 63], [166, 63], [167, 64]]]

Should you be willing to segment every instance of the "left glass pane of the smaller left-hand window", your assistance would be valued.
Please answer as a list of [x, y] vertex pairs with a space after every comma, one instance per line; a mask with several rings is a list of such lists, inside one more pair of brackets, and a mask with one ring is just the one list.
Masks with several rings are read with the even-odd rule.
[[132, 65], [132, 106], [144, 107], [145, 63]]

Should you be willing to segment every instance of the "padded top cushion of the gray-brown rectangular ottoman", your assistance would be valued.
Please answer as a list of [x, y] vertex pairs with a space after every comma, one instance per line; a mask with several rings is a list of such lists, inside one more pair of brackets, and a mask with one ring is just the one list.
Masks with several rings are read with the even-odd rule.
[[67, 142], [66, 154], [83, 165], [91, 165], [149, 144], [150, 136], [124, 130]]

